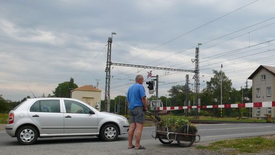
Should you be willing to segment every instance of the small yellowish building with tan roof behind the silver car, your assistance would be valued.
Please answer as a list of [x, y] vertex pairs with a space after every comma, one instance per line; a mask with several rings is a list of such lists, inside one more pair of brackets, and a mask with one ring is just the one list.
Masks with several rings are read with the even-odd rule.
[[100, 111], [101, 90], [85, 85], [71, 91], [72, 98], [81, 100]]

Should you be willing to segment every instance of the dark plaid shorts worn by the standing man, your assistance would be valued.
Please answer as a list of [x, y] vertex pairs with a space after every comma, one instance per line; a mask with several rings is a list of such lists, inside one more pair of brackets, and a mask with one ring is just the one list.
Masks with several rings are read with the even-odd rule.
[[143, 106], [137, 106], [134, 109], [130, 110], [130, 119], [131, 123], [144, 123], [144, 111]]

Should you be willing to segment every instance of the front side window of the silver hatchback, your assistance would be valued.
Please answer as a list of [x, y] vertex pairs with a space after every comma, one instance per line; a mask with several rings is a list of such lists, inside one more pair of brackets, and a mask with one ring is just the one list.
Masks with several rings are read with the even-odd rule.
[[66, 113], [89, 114], [90, 109], [82, 103], [71, 100], [64, 100], [64, 104]]

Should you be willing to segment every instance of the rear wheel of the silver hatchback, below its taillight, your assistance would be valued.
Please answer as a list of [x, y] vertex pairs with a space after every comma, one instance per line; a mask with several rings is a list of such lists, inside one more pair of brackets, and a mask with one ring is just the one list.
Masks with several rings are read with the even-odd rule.
[[37, 130], [32, 126], [23, 126], [17, 132], [17, 140], [23, 145], [31, 145], [38, 138]]

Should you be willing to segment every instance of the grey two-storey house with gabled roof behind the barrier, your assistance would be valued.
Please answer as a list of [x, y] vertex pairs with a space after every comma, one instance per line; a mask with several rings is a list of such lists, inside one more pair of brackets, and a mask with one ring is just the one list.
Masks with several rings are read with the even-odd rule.
[[[275, 67], [260, 65], [248, 79], [252, 80], [252, 102], [275, 100]], [[266, 118], [266, 114], [274, 118], [275, 108], [256, 107], [252, 110], [254, 118]]]

